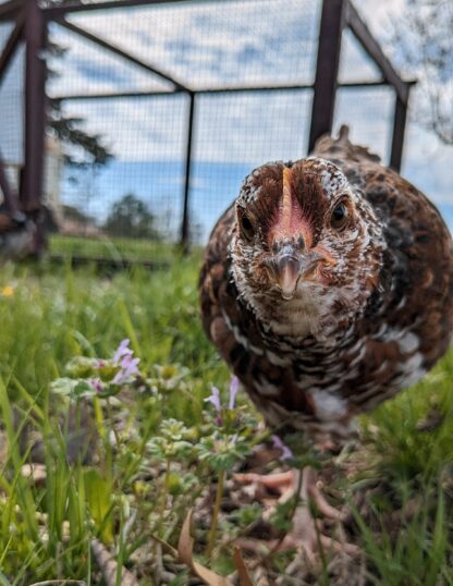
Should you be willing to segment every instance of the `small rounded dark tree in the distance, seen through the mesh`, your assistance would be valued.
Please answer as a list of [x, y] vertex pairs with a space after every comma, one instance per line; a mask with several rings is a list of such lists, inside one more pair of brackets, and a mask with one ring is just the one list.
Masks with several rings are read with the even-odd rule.
[[142, 199], [133, 194], [115, 202], [103, 224], [111, 236], [161, 240], [156, 228], [156, 217]]

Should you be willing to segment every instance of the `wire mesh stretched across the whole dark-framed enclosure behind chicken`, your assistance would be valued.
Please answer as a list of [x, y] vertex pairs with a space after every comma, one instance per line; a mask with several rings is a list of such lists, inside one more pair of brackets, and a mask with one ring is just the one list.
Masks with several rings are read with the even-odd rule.
[[[212, 0], [68, 15], [85, 35], [50, 23], [49, 112], [64, 126], [46, 138], [45, 202], [60, 232], [53, 252], [171, 254], [183, 223], [191, 94], [193, 242], [206, 241], [253, 168], [306, 156], [320, 8], [320, 0]], [[7, 35], [0, 27], [0, 47]], [[21, 166], [23, 65], [11, 72], [0, 86], [0, 106], [12, 109], [0, 149], [15, 149]], [[379, 80], [345, 30], [339, 81]], [[334, 127], [350, 124], [353, 139], [387, 161], [393, 103], [389, 88], [340, 88]], [[91, 154], [81, 147], [87, 143]], [[105, 164], [93, 164], [94, 145], [111, 155]]]

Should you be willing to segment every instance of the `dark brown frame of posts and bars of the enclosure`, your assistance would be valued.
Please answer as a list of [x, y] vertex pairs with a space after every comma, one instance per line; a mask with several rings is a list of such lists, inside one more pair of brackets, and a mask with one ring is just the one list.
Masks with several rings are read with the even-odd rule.
[[[56, 22], [72, 33], [84, 37], [102, 49], [114, 53], [117, 57], [138, 66], [148, 73], [172, 84], [171, 89], [156, 91], [119, 91], [106, 94], [73, 94], [66, 96], [49, 97], [56, 100], [90, 100], [90, 99], [118, 99], [138, 98], [162, 95], [186, 94], [188, 108], [186, 114], [186, 152], [185, 152], [185, 184], [183, 191], [183, 219], [181, 225], [181, 244], [187, 249], [189, 240], [189, 193], [191, 193], [191, 167], [192, 143], [196, 124], [196, 98], [198, 95], [249, 93], [249, 91], [293, 91], [313, 90], [314, 99], [311, 107], [311, 125], [309, 132], [309, 150], [316, 141], [325, 133], [332, 130], [332, 121], [335, 108], [335, 95], [339, 87], [371, 87], [387, 85], [395, 90], [395, 113], [392, 135], [392, 148], [390, 164], [400, 170], [404, 132], [406, 124], [407, 105], [413, 81], [407, 82], [394, 70], [392, 63], [383, 53], [379, 44], [372, 37], [368, 27], [360, 19], [350, 0], [322, 0], [322, 10], [319, 29], [319, 45], [317, 69], [314, 84], [292, 85], [250, 85], [193, 88], [174, 78], [152, 63], [145, 62], [128, 51], [105, 40], [103, 38], [75, 25], [66, 20], [68, 15], [79, 12], [110, 11], [137, 7], [150, 7], [154, 4], [193, 2], [194, 0], [107, 0], [105, 2], [83, 3], [40, 8], [38, 0], [10, 0], [0, 4], [0, 23], [15, 22], [2, 53], [0, 53], [0, 84], [4, 77], [8, 65], [23, 39], [26, 44], [26, 89], [25, 89], [25, 170], [21, 182], [21, 205], [26, 211], [39, 209], [42, 191], [44, 169], [44, 137], [46, 125], [46, 62], [44, 51], [47, 42], [47, 28], [49, 22]], [[216, 0], [195, 0], [197, 2], [212, 2]], [[226, 1], [226, 0], [223, 0]], [[257, 0], [244, 0], [257, 1]], [[363, 83], [338, 83], [338, 70], [341, 51], [342, 32], [347, 26], [357, 38], [365, 51], [378, 65], [382, 73], [382, 80]], [[14, 204], [13, 190], [8, 184], [4, 168], [0, 158], [0, 182], [5, 199]], [[8, 195], [7, 195], [8, 192]], [[12, 208], [11, 208], [12, 209]]]

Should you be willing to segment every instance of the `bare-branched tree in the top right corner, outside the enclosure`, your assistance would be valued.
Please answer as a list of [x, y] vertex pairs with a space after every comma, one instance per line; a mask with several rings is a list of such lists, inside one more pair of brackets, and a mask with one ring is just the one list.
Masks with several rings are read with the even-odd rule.
[[453, 145], [453, 0], [406, 0], [394, 59], [418, 78], [415, 118]]

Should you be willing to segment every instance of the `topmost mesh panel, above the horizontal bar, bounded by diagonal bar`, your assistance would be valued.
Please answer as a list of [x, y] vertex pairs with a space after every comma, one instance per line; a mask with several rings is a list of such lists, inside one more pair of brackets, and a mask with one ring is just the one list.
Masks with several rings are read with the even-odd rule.
[[199, 89], [310, 83], [319, 9], [319, 0], [183, 2], [71, 20]]

